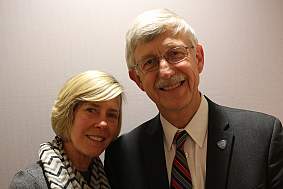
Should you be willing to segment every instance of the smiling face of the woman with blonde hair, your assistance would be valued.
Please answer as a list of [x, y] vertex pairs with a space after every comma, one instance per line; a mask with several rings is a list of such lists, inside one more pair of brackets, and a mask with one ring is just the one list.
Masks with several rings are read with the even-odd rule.
[[76, 155], [99, 156], [118, 136], [121, 99], [82, 102], [74, 112], [70, 144]]

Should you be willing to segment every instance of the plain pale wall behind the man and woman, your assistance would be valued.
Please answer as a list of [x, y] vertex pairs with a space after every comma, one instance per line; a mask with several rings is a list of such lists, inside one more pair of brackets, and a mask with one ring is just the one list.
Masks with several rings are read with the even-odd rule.
[[205, 95], [283, 120], [282, 0], [0, 0], [0, 188], [53, 138], [53, 101], [78, 72], [103, 70], [124, 85], [123, 133], [157, 114], [128, 78], [124, 36], [134, 17], [161, 7], [203, 43]]

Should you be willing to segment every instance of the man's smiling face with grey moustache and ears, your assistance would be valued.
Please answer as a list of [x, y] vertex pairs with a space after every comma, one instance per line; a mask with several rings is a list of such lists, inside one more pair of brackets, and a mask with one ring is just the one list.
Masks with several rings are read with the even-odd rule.
[[154, 71], [129, 71], [131, 79], [163, 115], [190, 109], [199, 100], [199, 74], [204, 64], [202, 46], [190, 48], [192, 44], [185, 36], [164, 33], [148, 43], [139, 44], [134, 52], [135, 62], [140, 64], [148, 57], [162, 57], [169, 49], [179, 46], [188, 47], [188, 56], [181, 62], [170, 64], [165, 58], [159, 58], [159, 67]]

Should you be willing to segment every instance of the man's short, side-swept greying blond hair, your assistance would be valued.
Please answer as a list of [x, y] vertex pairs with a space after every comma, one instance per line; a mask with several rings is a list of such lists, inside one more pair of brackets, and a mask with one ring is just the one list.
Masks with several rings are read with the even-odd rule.
[[167, 31], [173, 35], [185, 34], [195, 46], [198, 43], [191, 26], [180, 16], [168, 9], [153, 9], [140, 14], [126, 34], [126, 60], [128, 69], [135, 66], [134, 52], [141, 43], [153, 40]]

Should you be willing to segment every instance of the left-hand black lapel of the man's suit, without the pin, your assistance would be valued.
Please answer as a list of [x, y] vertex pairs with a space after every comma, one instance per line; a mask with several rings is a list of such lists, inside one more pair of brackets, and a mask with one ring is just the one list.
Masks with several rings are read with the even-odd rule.
[[142, 151], [144, 173], [147, 174], [149, 188], [169, 189], [163, 145], [163, 130], [159, 115], [148, 123], [145, 135]]

